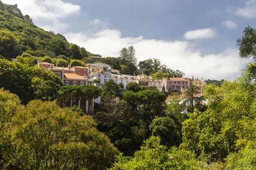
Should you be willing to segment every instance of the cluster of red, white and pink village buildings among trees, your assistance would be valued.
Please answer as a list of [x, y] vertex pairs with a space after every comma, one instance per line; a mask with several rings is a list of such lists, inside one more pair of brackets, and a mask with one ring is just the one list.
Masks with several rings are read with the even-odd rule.
[[[101, 85], [106, 81], [114, 80], [115, 83], [120, 85], [120, 90], [125, 90], [125, 87], [130, 82], [138, 83], [147, 87], [155, 87], [159, 92], [170, 94], [172, 92], [177, 92], [179, 98], [184, 98], [184, 92], [186, 87], [191, 87], [195, 85], [200, 88], [200, 93], [196, 94], [197, 97], [204, 96], [205, 81], [198, 78], [175, 78], [167, 76], [162, 80], [154, 80], [152, 76], [141, 74], [138, 76], [132, 76], [127, 74], [120, 74], [117, 69], [112, 69], [111, 66], [102, 62], [96, 62], [93, 64], [86, 64], [83, 66], [71, 67], [57, 67], [49, 62], [37, 62], [36, 66], [41, 66], [44, 69], [49, 69], [52, 73], [60, 77], [64, 85], [95, 85], [101, 88]], [[93, 81], [94, 80], [94, 81]], [[97, 81], [95, 81], [97, 80]], [[172, 99], [169, 96], [167, 99]], [[84, 103], [84, 106], [79, 101], [79, 107], [83, 109], [86, 113], [94, 112], [94, 101], [95, 103], [100, 103], [100, 97], [97, 99], [90, 99]], [[91, 107], [90, 107], [91, 106]], [[72, 107], [72, 102], [70, 104]], [[88, 110], [90, 108], [90, 110]]]

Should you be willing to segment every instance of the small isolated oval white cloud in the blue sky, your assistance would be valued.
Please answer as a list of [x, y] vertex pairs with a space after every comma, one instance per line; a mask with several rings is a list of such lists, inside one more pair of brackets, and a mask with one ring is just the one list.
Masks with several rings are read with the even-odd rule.
[[212, 38], [216, 34], [211, 28], [207, 29], [196, 29], [193, 31], [188, 31], [184, 34], [185, 39], [204, 39]]

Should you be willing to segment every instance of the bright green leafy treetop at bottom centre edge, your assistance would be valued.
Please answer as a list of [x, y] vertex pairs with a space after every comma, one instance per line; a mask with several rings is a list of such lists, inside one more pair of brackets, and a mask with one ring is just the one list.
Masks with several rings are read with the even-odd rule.
[[131, 159], [120, 155], [111, 169], [195, 169], [193, 153], [181, 148], [166, 149], [160, 144], [159, 137], [151, 136]]

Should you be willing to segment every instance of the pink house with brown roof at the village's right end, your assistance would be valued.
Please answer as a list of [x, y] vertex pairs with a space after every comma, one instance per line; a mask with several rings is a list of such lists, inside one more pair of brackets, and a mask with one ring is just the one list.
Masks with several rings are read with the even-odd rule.
[[165, 92], [180, 92], [181, 89], [191, 86], [193, 81], [190, 78], [163, 78]]

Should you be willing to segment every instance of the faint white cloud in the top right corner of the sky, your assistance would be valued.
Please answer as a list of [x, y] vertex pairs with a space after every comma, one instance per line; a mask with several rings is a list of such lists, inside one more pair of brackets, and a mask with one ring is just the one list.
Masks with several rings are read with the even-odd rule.
[[245, 6], [236, 11], [236, 15], [244, 18], [256, 18], [256, 0], [246, 1]]

